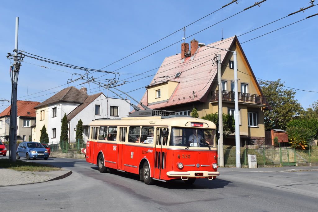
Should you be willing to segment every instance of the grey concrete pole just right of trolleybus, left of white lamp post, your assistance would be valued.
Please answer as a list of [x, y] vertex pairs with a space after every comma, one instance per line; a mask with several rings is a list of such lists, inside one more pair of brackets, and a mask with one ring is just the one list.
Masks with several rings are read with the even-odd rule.
[[221, 54], [218, 54], [218, 91], [219, 91], [219, 101], [218, 101], [218, 128], [219, 129], [218, 130], [220, 133], [220, 138], [218, 140], [219, 166], [224, 167]]

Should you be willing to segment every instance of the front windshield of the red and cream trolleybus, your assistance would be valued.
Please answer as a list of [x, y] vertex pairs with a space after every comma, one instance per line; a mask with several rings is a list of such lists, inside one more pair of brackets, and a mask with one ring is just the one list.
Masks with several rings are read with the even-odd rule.
[[214, 147], [214, 141], [214, 129], [172, 127], [169, 145], [181, 147]]

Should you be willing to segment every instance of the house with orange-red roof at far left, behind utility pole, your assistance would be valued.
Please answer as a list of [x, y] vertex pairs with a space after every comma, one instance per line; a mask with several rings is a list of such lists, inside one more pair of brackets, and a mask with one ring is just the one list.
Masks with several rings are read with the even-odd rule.
[[[35, 106], [39, 102], [17, 100], [17, 141], [29, 141], [32, 136], [31, 125], [35, 123]], [[0, 113], [0, 139], [9, 141], [11, 106]]]

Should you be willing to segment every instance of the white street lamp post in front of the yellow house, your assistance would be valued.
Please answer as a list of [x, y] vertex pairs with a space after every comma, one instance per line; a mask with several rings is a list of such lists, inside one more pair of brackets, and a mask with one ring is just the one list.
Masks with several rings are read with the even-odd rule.
[[241, 168], [241, 150], [239, 140], [239, 92], [238, 92], [238, 66], [236, 51], [233, 51], [234, 60], [234, 104], [235, 104], [235, 150], [236, 168]]

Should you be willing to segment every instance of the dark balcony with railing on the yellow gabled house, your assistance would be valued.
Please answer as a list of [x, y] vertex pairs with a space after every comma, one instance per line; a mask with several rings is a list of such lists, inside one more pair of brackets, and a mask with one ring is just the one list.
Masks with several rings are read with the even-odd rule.
[[[218, 101], [218, 91], [211, 92], [211, 102]], [[222, 100], [234, 101], [234, 91], [222, 91]], [[266, 105], [265, 96], [239, 92], [239, 102], [251, 103], [257, 105]]]

